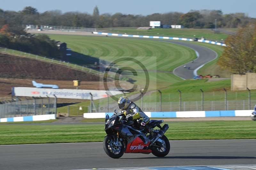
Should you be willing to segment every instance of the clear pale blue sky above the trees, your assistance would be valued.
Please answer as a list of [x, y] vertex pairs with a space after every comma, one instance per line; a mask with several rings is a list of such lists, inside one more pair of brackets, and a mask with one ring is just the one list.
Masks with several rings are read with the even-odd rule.
[[100, 13], [121, 12], [142, 14], [183, 12], [189, 10], [222, 10], [223, 13], [244, 12], [256, 18], [256, 0], [0, 0], [3, 10], [20, 11], [33, 6], [39, 12], [49, 10], [80, 11], [92, 13], [98, 5]]

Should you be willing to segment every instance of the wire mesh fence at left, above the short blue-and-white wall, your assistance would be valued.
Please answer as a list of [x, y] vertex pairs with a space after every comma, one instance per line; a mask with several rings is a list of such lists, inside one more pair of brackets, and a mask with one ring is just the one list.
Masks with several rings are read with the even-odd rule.
[[0, 104], [0, 118], [56, 114], [56, 100], [44, 98]]

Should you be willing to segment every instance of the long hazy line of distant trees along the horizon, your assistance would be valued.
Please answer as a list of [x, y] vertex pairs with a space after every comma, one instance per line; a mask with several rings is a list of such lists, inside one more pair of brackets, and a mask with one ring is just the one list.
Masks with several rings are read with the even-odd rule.
[[141, 27], [149, 26], [149, 21], [161, 21], [162, 24], [183, 25], [187, 28], [214, 28], [215, 19], [218, 27], [243, 27], [255, 21], [245, 13], [223, 14], [221, 10], [191, 10], [188, 13], [168, 12], [150, 15], [132, 15], [103, 13], [98, 7], [93, 14], [87, 12], [65, 12], [60, 10], [39, 13], [36, 8], [25, 7], [21, 11], [4, 11], [0, 9], [0, 26], [9, 25], [48, 25], [74, 26], [87, 28], [104, 27]]

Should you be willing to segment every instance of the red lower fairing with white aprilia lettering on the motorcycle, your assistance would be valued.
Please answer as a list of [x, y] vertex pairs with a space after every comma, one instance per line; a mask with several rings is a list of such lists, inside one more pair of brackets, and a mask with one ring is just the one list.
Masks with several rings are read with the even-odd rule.
[[136, 137], [132, 142], [127, 144], [126, 150], [124, 153], [145, 153], [149, 154], [152, 151], [147, 149], [147, 146], [150, 144], [144, 144], [144, 142], [140, 139], [140, 137]]

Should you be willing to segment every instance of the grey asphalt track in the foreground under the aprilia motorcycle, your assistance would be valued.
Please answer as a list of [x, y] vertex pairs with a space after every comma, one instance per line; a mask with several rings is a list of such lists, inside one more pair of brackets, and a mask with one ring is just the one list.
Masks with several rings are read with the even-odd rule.
[[242, 165], [256, 161], [256, 140], [171, 141], [164, 158], [106, 155], [102, 143], [0, 146], [0, 169], [90, 169], [150, 166]]

